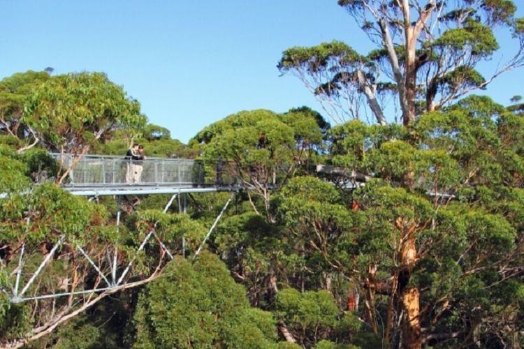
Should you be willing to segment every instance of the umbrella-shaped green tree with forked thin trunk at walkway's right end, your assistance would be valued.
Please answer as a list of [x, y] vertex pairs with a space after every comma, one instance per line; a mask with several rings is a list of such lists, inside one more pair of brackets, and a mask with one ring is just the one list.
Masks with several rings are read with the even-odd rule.
[[[253, 190], [261, 198], [268, 221], [271, 191], [278, 189], [312, 153], [322, 140], [321, 130], [312, 114], [269, 110], [239, 112], [204, 128], [190, 146], [200, 149], [208, 163], [223, 163], [220, 172]], [[252, 207], [259, 207], [248, 192]]]

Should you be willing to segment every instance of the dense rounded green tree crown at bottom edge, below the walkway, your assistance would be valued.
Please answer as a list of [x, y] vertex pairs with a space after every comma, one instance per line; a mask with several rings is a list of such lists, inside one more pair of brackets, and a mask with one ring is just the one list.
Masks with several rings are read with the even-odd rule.
[[245, 290], [216, 256], [177, 258], [141, 292], [133, 348], [276, 348], [272, 314], [249, 307]]

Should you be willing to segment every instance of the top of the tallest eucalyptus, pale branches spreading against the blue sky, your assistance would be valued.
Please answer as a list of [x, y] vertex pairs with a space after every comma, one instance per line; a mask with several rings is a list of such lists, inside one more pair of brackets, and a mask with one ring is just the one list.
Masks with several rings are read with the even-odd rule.
[[[339, 0], [375, 50], [359, 53], [340, 41], [291, 47], [278, 68], [293, 73], [337, 122], [361, 119], [367, 103], [386, 124], [384, 101], [393, 96], [404, 125], [422, 112], [483, 89], [524, 64], [524, 19], [510, 0]], [[486, 72], [477, 70], [500, 47], [495, 31], [507, 29], [514, 55]]]

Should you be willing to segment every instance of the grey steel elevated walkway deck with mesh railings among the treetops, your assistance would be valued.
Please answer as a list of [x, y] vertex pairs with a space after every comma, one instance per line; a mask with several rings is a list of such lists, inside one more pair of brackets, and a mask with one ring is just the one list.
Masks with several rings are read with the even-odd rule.
[[68, 168], [75, 165], [62, 187], [73, 195], [147, 195], [239, 191], [232, 179], [224, 178], [222, 166], [205, 166], [185, 158], [147, 158], [131, 161], [124, 156], [51, 154]]

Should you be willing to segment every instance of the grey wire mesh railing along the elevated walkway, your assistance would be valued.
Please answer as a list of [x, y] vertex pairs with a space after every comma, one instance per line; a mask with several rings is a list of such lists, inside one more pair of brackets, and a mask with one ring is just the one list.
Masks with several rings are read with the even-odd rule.
[[182, 158], [147, 158], [131, 161], [120, 156], [52, 154], [68, 168], [75, 162], [64, 186], [194, 185], [205, 184], [201, 161]]

